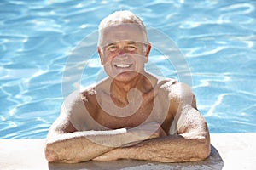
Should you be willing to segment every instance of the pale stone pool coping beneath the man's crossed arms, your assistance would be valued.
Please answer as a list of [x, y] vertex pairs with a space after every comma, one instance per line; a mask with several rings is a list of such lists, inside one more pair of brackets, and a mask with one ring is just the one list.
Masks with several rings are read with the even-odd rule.
[[[152, 161], [90, 161], [49, 164], [44, 139], [0, 139], [1, 169], [253, 169], [256, 165], [256, 133], [211, 133], [211, 156], [206, 161], [157, 163]], [[105, 168], [104, 168], [105, 167]]]

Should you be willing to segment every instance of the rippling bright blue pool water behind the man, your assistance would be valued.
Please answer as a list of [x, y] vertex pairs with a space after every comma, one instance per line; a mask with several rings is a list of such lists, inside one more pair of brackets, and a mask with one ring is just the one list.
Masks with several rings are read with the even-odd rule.
[[[255, 1], [2, 0], [0, 139], [45, 138], [63, 98], [102, 74], [96, 49], [89, 63], [72, 60], [72, 52], [120, 9], [176, 42], [211, 133], [256, 132]], [[162, 39], [153, 41], [161, 45]], [[150, 59], [164, 76], [182, 81], [156, 48]], [[81, 65], [82, 77], [72, 72]]]

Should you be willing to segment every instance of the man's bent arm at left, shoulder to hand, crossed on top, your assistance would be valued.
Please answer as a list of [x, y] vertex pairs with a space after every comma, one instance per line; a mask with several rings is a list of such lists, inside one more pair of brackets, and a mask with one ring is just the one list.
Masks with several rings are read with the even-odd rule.
[[[84, 103], [79, 97], [79, 93], [74, 93], [67, 97], [61, 107], [61, 115], [49, 129], [45, 145], [45, 157], [50, 162], [73, 163], [89, 161], [116, 147], [147, 139], [148, 133], [151, 134], [150, 127], [155, 129], [155, 125], [151, 124], [137, 129], [137, 131], [127, 131], [125, 128], [122, 128], [106, 131], [88, 130], [78, 132], [73, 125], [74, 123], [72, 123], [76, 122], [72, 120], [72, 114], [76, 114], [77, 117], [88, 115], [84, 108]], [[79, 114], [82, 114], [82, 116], [79, 116]], [[153, 133], [149, 138], [156, 138], [159, 135], [160, 133]]]

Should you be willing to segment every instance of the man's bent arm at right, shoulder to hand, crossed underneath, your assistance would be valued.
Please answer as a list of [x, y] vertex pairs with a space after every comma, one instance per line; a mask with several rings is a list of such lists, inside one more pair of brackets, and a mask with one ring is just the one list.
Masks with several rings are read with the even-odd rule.
[[149, 139], [131, 147], [111, 150], [96, 161], [137, 159], [160, 162], [201, 161], [210, 154], [207, 122], [196, 110], [190, 88], [176, 83], [170, 89], [172, 109], [176, 112], [177, 135]]

